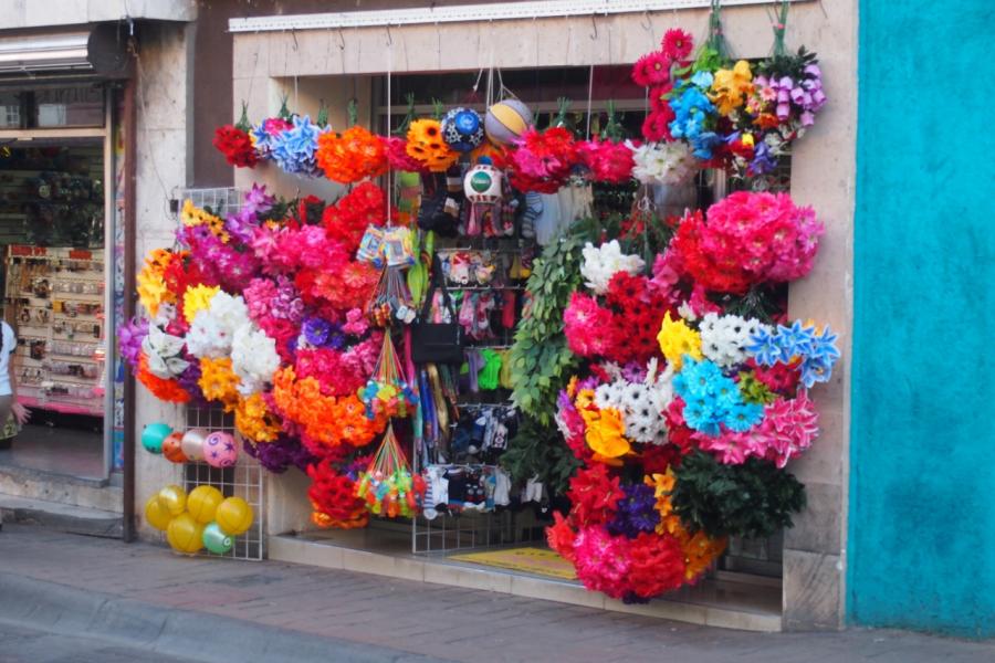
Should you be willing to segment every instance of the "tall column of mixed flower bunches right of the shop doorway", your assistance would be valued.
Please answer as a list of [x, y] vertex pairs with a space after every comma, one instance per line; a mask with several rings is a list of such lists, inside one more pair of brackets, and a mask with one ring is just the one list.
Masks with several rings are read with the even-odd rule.
[[[839, 358], [828, 327], [772, 323], [699, 267], [735, 261], [747, 288], [800, 277], [820, 232], [814, 213], [767, 193], [714, 207], [714, 234], [689, 214], [651, 276], [617, 243], [587, 246], [586, 292], [564, 313], [584, 370], [561, 392], [556, 423], [582, 465], [547, 538], [587, 588], [626, 601], [695, 582], [727, 536], [790, 525], [804, 492], [784, 467], [818, 435], [808, 390]], [[651, 351], [626, 352], [647, 336]]]

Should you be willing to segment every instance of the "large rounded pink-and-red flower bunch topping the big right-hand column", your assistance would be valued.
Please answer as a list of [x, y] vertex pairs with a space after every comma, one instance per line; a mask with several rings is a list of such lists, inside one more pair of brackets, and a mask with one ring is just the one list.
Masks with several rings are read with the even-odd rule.
[[811, 270], [823, 224], [787, 193], [739, 191], [687, 214], [672, 249], [682, 270], [709, 291], [745, 293], [752, 285], [802, 278]]

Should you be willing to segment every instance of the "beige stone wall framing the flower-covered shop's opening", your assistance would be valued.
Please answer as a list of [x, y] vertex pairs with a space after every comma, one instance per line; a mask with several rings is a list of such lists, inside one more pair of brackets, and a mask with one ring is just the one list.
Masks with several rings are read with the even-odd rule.
[[[723, 15], [734, 55], [761, 57], [769, 52], [767, 8], [729, 8]], [[383, 74], [388, 66], [394, 72], [426, 72], [629, 63], [657, 48], [668, 28], [682, 27], [702, 38], [706, 19], [705, 11], [689, 10], [594, 21], [564, 18], [396, 27], [389, 36], [385, 29], [238, 34], [233, 115], [245, 99], [251, 118], [265, 117], [279, 108], [281, 95], [290, 93], [292, 109], [312, 115], [318, 98], [333, 104], [333, 126], [342, 126], [345, 91], [352, 90], [356, 74]], [[817, 126], [798, 144], [793, 161], [792, 193], [797, 202], [815, 207], [826, 224], [826, 236], [813, 274], [792, 286], [790, 313], [829, 323], [840, 332], [844, 349], [832, 382], [814, 392], [823, 414], [823, 434], [808, 455], [792, 466], [809, 491], [809, 507], [785, 537], [784, 621], [794, 629], [838, 628], [842, 615], [856, 31], [856, 0], [798, 3], [788, 19], [788, 44], [805, 44], [819, 53], [830, 99]], [[359, 97], [368, 101], [363, 94]], [[264, 181], [286, 196], [300, 190], [327, 198], [336, 191], [328, 182], [297, 179], [272, 167], [237, 173], [237, 186], [247, 188], [252, 181]], [[306, 525], [305, 483], [300, 475], [270, 477], [270, 532]]]

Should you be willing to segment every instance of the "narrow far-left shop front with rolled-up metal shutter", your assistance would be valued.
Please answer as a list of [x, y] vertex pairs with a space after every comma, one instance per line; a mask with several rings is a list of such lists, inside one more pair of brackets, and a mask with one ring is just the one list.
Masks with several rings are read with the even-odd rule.
[[103, 490], [121, 485], [123, 433], [112, 348], [124, 294], [116, 128], [127, 72], [112, 34], [0, 40], [3, 318], [17, 336], [13, 387], [31, 412], [23, 427], [8, 422], [0, 473], [9, 495], [121, 513], [119, 490]]

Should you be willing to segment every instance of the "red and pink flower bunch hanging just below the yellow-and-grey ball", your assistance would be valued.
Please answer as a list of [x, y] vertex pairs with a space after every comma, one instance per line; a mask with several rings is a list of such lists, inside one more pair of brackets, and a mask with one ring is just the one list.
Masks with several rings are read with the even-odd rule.
[[507, 155], [509, 181], [520, 191], [556, 193], [578, 162], [574, 135], [565, 127], [532, 127]]

